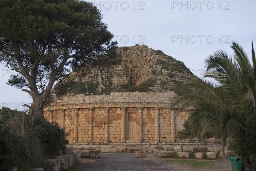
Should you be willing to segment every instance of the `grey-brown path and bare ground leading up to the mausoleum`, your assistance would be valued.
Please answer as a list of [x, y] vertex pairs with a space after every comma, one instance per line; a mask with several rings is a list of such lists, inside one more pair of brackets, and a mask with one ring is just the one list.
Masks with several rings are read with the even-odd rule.
[[147, 154], [136, 158], [134, 153], [103, 153], [99, 159], [78, 159], [81, 162], [76, 171], [232, 171], [230, 161], [216, 161], [211, 167], [194, 168], [180, 163], [166, 162], [166, 159]]

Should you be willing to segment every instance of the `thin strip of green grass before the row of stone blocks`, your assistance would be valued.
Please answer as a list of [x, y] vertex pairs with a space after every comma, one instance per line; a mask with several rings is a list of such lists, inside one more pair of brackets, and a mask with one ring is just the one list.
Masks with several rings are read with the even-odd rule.
[[212, 167], [215, 163], [222, 162], [222, 160], [189, 160], [189, 159], [165, 159], [169, 163], [181, 163], [190, 165], [195, 168]]

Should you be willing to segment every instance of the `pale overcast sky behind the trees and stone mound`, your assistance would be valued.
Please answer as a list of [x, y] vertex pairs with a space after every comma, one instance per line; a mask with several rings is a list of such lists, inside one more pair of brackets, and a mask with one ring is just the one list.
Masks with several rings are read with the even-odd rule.
[[[118, 46], [145, 44], [183, 61], [201, 76], [204, 59], [218, 49], [230, 54], [237, 41], [251, 57], [256, 43], [256, 0], [104, 0], [90, 1], [100, 9], [103, 22]], [[0, 65], [1, 107], [24, 110], [27, 93], [6, 84], [8, 69]]]

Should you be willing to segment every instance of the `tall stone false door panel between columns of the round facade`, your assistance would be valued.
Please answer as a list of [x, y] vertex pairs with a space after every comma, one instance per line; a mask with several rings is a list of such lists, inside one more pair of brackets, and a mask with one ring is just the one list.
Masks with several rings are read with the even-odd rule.
[[137, 113], [128, 113], [127, 115], [127, 140], [126, 142], [137, 142]]

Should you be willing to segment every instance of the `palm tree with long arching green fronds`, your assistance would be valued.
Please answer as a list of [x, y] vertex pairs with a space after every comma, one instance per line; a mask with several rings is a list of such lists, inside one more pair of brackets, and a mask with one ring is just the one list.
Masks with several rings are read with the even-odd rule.
[[[252, 62], [243, 48], [232, 42], [234, 55], [218, 50], [205, 60], [204, 78], [185, 84], [177, 103], [192, 106], [188, 122], [192, 134], [201, 137], [214, 130], [224, 146], [242, 157], [247, 171], [256, 168], [256, 58], [252, 43]], [[252, 64], [251, 64], [252, 63]]]

